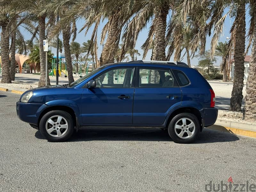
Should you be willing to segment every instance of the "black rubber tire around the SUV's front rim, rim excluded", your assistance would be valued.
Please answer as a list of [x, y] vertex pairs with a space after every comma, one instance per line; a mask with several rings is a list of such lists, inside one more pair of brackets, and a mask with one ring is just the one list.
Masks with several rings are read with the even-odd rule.
[[[67, 122], [68, 122], [68, 131], [61, 137], [52, 137], [51, 135], [49, 135], [45, 129], [45, 124], [46, 121], [55, 115], [59, 115], [59, 116], [63, 116]], [[48, 113], [46, 113], [40, 120], [39, 123], [39, 130], [41, 132], [41, 134], [49, 141], [53, 141], [53, 142], [60, 142], [60, 141], [65, 141], [68, 140], [73, 132], [74, 132], [74, 123], [72, 120], [72, 116], [67, 113], [66, 111], [61, 111], [61, 110], [55, 110], [55, 111], [50, 111]]]

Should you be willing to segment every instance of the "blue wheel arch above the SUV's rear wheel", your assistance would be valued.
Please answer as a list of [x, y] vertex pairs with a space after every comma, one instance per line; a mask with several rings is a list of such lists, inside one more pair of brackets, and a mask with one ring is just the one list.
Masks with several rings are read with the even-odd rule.
[[172, 118], [180, 113], [192, 113], [193, 115], [195, 115], [199, 121], [200, 124], [200, 131], [202, 131], [203, 127], [202, 127], [202, 115], [200, 113], [200, 111], [196, 108], [193, 107], [182, 107], [182, 108], [178, 108], [176, 110], [174, 110], [168, 117], [165, 127], [169, 126], [169, 123], [171, 122]]

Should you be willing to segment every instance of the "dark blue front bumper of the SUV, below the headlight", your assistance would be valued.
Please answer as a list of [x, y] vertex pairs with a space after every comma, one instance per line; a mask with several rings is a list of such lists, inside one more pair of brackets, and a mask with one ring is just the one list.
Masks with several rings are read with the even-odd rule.
[[38, 103], [22, 103], [18, 101], [16, 103], [16, 113], [21, 121], [29, 124], [37, 125], [38, 122], [38, 109], [44, 104]]

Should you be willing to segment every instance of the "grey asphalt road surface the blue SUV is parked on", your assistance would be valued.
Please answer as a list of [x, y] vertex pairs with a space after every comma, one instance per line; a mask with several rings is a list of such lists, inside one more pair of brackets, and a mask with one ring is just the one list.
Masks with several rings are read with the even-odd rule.
[[19, 97], [0, 91], [1, 192], [205, 191], [230, 176], [256, 184], [253, 138], [205, 129], [176, 144], [156, 128], [87, 128], [52, 143], [17, 118]]

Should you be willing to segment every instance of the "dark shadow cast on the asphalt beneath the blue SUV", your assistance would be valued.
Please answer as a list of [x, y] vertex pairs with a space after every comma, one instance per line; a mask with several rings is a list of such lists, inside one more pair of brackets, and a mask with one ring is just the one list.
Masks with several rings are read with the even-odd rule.
[[[40, 131], [37, 131], [35, 137], [44, 139]], [[67, 142], [77, 141], [172, 141], [167, 131], [159, 128], [81, 128]], [[194, 143], [215, 143], [231, 142], [239, 140], [232, 133], [220, 132], [210, 129], [204, 129]]]

